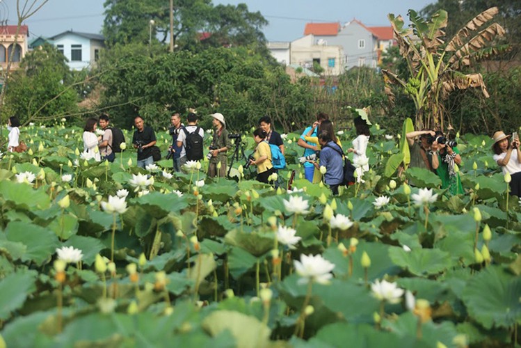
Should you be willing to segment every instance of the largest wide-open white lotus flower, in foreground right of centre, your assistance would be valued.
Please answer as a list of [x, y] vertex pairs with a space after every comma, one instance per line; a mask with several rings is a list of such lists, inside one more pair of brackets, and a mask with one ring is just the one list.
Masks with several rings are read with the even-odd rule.
[[331, 271], [335, 268], [328, 260], [322, 258], [322, 255], [300, 255], [300, 261], [294, 261], [296, 273], [301, 277], [299, 284], [307, 284], [310, 281], [319, 284], [328, 284], [332, 278]]

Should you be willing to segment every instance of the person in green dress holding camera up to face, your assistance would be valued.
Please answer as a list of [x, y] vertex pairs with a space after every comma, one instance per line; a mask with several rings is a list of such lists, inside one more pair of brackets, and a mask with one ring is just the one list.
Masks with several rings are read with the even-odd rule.
[[461, 157], [456, 141], [449, 141], [442, 132], [435, 132], [435, 141], [431, 145], [431, 164], [433, 171], [442, 180], [442, 189], [449, 189], [451, 195], [463, 194], [460, 173], [455, 165], [461, 164]]

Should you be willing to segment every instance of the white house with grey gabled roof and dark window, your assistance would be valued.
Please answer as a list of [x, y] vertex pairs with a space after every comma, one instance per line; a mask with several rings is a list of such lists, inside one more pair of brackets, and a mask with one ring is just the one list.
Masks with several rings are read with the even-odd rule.
[[67, 58], [67, 65], [72, 70], [93, 67], [99, 58], [99, 51], [105, 47], [103, 35], [72, 30], [54, 35], [49, 40]]

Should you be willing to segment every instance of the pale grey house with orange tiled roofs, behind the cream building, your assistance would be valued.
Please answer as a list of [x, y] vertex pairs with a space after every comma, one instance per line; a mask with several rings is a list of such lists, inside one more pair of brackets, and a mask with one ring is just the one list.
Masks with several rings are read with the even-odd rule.
[[[390, 35], [389, 35], [390, 33]], [[315, 44], [342, 47], [344, 69], [355, 66], [376, 68], [383, 49], [392, 44], [392, 27], [368, 27], [358, 19], [344, 25], [335, 23], [307, 23], [304, 35], [314, 35]]]

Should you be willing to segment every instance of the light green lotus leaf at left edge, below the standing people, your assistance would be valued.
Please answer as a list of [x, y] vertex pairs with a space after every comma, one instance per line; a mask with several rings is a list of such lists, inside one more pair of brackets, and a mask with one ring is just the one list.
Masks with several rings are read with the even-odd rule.
[[8, 180], [0, 182], [0, 196], [27, 210], [47, 209], [51, 205], [49, 194], [42, 189]]

